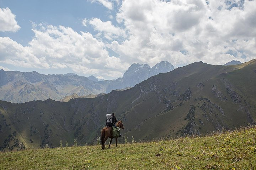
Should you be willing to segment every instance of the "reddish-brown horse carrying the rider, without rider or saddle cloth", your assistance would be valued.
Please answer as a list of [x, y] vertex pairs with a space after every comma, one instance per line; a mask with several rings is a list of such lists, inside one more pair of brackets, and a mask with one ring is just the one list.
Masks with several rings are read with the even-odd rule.
[[[116, 126], [121, 128], [121, 129], [124, 129], [122, 120], [119, 120], [116, 123]], [[105, 149], [105, 142], [108, 138], [110, 138], [110, 145], [111, 145], [112, 139], [114, 138], [112, 136], [112, 128], [106, 126], [105, 128], [102, 128], [102, 130], [101, 130], [101, 146], [102, 146], [102, 149]], [[108, 148], [110, 148], [110, 145], [108, 146]], [[117, 137], [116, 137], [116, 147], [117, 147]]]

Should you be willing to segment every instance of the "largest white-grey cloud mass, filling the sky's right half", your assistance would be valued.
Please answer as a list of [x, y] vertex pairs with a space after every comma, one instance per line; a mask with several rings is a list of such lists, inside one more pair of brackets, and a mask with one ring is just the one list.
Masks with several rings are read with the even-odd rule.
[[230, 3], [238, 7], [222, 0], [124, 0], [117, 21], [129, 36], [113, 40], [110, 48], [121, 60], [151, 66], [162, 60], [177, 67], [256, 58], [256, 1]]

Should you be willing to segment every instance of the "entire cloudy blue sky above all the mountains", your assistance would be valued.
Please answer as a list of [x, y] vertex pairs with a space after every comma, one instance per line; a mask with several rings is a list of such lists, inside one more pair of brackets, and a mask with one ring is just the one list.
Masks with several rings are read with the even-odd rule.
[[0, 69], [122, 77], [256, 58], [255, 0], [0, 0]]

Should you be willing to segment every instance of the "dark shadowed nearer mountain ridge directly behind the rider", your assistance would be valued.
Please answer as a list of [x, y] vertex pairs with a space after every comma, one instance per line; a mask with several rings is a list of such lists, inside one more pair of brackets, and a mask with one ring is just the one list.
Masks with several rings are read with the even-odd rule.
[[235, 66], [195, 62], [95, 98], [0, 101], [0, 149], [56, 147], [60, 140], [72, 143], [74, 139], [79, 145], [95, 143], [106, 114], [112, 112], [123, 121], [121, 133], [128, 141], [255, 124], [255, 85], [256, 60]]

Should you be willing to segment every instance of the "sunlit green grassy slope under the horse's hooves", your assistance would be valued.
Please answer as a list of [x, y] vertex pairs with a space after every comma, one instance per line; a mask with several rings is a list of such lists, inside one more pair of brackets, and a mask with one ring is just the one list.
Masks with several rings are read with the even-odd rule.
[[0, 169], [256, 169], [256, 126], [148, 143], [0, 153]]

